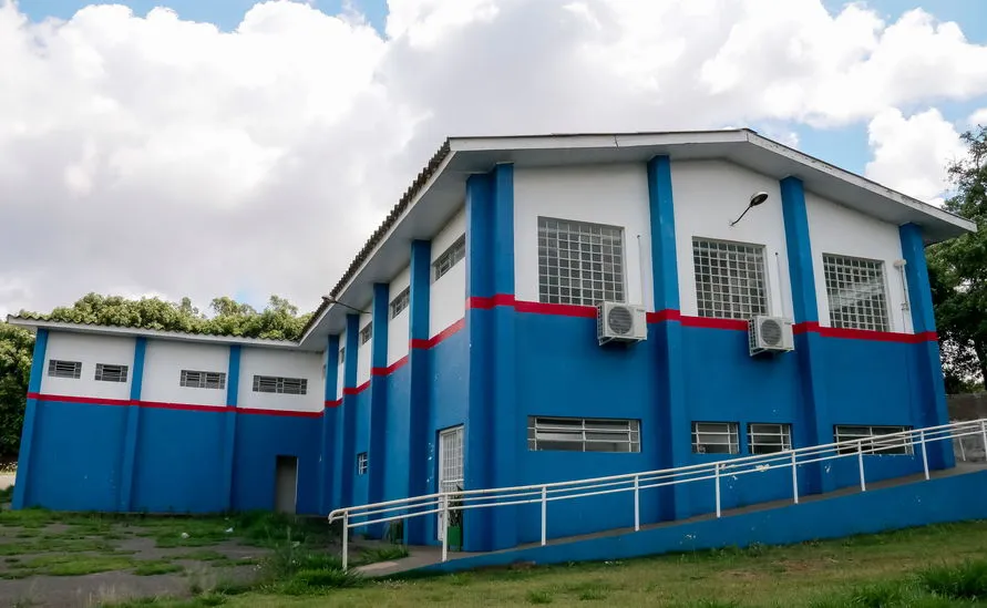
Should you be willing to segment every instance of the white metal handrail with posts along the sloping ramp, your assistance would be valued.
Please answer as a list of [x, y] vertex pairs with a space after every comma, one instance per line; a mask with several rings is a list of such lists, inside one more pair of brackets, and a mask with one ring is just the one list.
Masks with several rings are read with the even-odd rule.
[[[772, 452], [770, 454], [755, 454], [740, 456], [716, 462], [691, 464], [675, 468], [661, 468], [657, 471], [644, 471], [638, 473], [624, 473], [585, 480], [570, 480], [565, 482], [552, 482], [545, 484], [531, 484], [511, 487], [493, 487], [484, 490], [460, 490], [455, 492], [438, 492], [410, 498], [398, 498], [367, 505], [338, 508], [329, 514], [329, 522], [341, 519], [343, 522], [342, 534], [342, 566], [347, 567], [348, 530], [354, 527], [363, 527], [372, 524], [383, 524], [399, 519], [410, 519], [440, 514], [442, 522], [449, 521], [450, 511], [466, 511], [473, 508], [494, 508], [512, 505], [541, 504], [542, 505], [542, 545], [547, 542], [547, 505], [556, 501], [572, 501], [589, 496], [633, 492], [634, 501], [634, 529], [640, 529], [640, 492], [657, 487], [668, 487], [679, 484], [705, 482], [712, 480], [716, 492], [716, 513], [720, 517], [720, 481], [727, 476], [747, 475], [750, 473], [763, 473], [765, 471], [791, 468], [792, 470], [792, 502], [799, 503], [798, 467], [806, 464], [831, 460], [855, 457], [859, 463], [861, 491], [866, 492], [864, 474], [864, 455], [878, 454], [890, 450], [899, 450], [907, 446], [912, 450], [908, 455], [914, 456], [916, 445], [921, 446], [923, 471], [925, 478], [929, 478], [928, 454], [926, 444], [979, 435], [983, 440], [985, 453], [987, 453], [987, 419], [978, 419], [966, 422], [955, 422], [901, 431], [886, 435], [875, 435], [847, 440], [842, 442], [810, 445], [795, 450]], [[963, 451], [965, 460], [966, 452]], [[460, 506], [450, 506], [451, 499], [460, 501]], [[356, 521], [354, 521], [356, 519]], [[448, 559], [448, 538], [445, 530], [440, 529], [442, 537], [442, 560]]]

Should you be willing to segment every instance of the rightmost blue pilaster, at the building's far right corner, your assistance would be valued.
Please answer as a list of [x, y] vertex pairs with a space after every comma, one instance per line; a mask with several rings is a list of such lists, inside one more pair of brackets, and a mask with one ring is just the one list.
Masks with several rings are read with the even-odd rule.
[[[935, 426], [949, 423], [946, 408], [946, 385], [943, 380], [943, 363], [939, 358], [939, 343], [935, 338], [936, 318], [928, 282], [928, 266], [925, 260], [925, 243], [922, 228], [905, 224], [898, 229], [902, 240], [902, 256], [905, 259], [905, 280], [908, 284], [908, 305], [912, 309], [912, 329], [925, 340], [912, 348], [917, 367], [918, 400], [921, 411], [916, 412], [916, 425]], [[956, 457], [952, 442], [928, 444], [929, 466], [947, 468], [954, 466]]]

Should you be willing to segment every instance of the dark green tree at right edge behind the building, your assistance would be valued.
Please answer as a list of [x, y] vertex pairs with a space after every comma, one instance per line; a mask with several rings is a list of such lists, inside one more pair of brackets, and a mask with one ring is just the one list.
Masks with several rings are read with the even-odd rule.
[[949, 392], [987, 378], [987, 128], [962, 135], [967, 155], [948, 167], [955, 196], [944, 208], [977, 231], [928, 248], [929, 282]]

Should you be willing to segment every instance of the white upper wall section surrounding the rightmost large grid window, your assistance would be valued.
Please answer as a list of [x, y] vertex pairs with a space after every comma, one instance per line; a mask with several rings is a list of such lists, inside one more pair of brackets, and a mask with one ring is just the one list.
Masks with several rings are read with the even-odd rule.
[[884, 261], [888, 329], [912, 333], [911, 312], [902, 310], [905, 301], [903, 279], [894, 267], [895, 260], [902, 258], [898, 227], [808, 192], [805, 206], [820, 324], [830, 327], [830, 302], [822, 258], [823, 254], [833, 254]]

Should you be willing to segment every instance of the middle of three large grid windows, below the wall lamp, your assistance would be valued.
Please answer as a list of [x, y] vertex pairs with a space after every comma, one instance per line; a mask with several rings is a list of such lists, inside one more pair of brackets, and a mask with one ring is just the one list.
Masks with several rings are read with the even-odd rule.
[[700, 317], [750, 319], [768, 313], [760, 245], [693, 238], [692, 265]]

